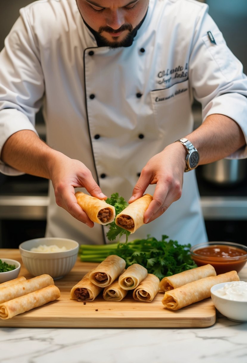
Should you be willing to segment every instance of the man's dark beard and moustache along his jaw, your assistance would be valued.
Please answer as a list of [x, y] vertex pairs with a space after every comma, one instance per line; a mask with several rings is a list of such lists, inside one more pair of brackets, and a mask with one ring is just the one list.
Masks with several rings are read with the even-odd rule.
[[[131, 24], [123, 24], [119, 29], [112, 29], [110, 26], [101, 26], [98, 31], [93, 30], [83, 19], [84, 24], [87, 25], [88, 29], [93, 33], [95, 40], [97, 42], [97, 46], [108, 46], [110, 48], [120, 48], [120, 47], [128, 47], [133, 44], [134, 37], [137, 34], [137, 30], [141, 27], [143, 21], [145, 20], [147, 15], [147, 12], [143, 19], [140, 21], [140, 23], [133, 28]], [[120, 41], [118, 41], [118, 37], [113, 37], [113, 41], [109, 41], [104, 36], [101, 35], [102, 32], [107, 33], [118, 33], [123, 30], [129, 30], [129, 33], [126, 35], [126, 37]]]

